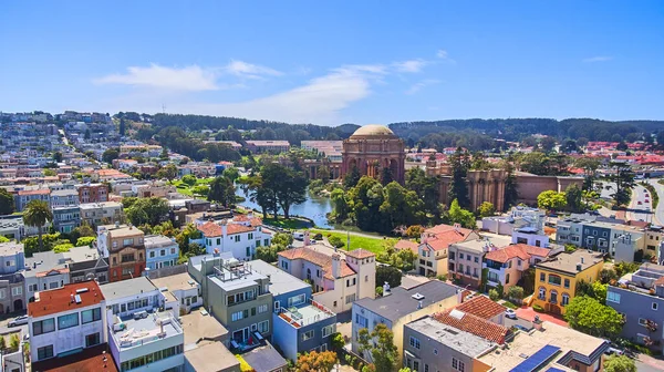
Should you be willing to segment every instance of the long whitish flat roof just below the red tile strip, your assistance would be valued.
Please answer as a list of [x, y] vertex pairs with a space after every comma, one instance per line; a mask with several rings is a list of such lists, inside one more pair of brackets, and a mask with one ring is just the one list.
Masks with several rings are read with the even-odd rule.
[[406, 324], [432, 340], [447, 345], [464, 355], [477, 356], [495, 347], [494, 342], [487, 341], [478, 335], [463, 331], [458, 328], [442, 323], [430, 317], [422, 318]]

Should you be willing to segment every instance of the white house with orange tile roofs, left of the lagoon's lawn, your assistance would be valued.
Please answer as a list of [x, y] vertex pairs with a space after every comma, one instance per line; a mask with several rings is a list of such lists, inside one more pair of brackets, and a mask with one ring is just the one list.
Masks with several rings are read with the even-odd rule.
[[262, 220], [251, 215], [198, 225], [208, 254], [232, 252], [239, 260], [252, 260], [256, 248], [269, 246], [272, 235], [262, 230]]

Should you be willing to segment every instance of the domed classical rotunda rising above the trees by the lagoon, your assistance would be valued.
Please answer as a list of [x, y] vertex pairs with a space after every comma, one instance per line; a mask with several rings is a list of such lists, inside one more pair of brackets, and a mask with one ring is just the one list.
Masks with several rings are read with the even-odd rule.
[[343, 141], [341, 157], [342, 177], [357, 167], [361, 175], [380, 178], [381, 169], [388, 167], [394, 180], [404, 183], [404, 142], [386, 126], [372, 124], [360, 127]]

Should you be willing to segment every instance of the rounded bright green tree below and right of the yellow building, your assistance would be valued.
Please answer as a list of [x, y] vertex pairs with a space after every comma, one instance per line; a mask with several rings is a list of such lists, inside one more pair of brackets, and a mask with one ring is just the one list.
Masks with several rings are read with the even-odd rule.
[[571, 328], [594, 337], [614, 339], [622, 329], [621, 314], [588, 296], [574, 297], [564, 319]]

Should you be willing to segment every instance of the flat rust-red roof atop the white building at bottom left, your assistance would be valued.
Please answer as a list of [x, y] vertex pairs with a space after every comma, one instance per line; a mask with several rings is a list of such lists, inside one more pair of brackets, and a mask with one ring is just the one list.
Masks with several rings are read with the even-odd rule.
[[[87, 291], [76, 293], [86, 288]], [[71, 296], [81, 296], [81, 303], [72, 302]], [[65, 285], [62, 288], [39, 292], [39, 300], [28, 303], [28, 314], [33, 318], [56, 314], [97, 304], [104, 300], [100, 286], [94, 280]]]

